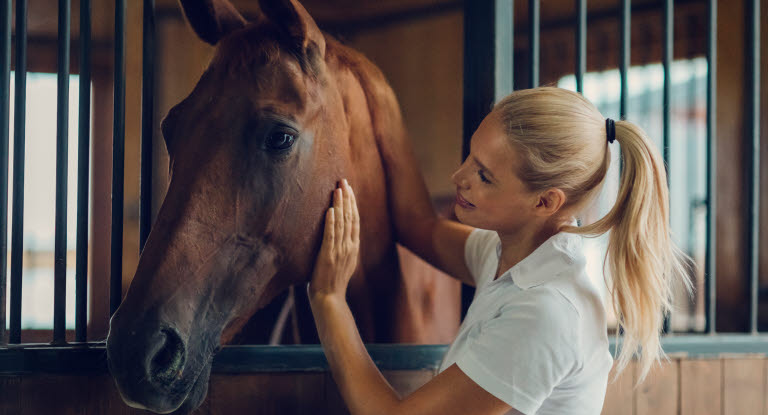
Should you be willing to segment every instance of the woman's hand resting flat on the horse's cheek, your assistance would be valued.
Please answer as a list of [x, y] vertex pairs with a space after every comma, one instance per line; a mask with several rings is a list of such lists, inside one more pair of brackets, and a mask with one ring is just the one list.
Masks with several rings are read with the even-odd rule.
[[352, 187], [344, 179], [333, 191], [333, 207], [325, 213], [325, 231], [320, 253], [307, 285], [311, 300], [322, 297], [344, 299], [357, 267], [360, 252], [360, 215]]

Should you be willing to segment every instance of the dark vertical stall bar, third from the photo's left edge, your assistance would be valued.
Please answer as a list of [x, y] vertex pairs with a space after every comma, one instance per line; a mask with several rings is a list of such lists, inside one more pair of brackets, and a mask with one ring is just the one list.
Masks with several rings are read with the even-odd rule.
[[59, 0], [56, 88], [56, 212], [53, 249], [53, 343], [66, 343], [67, 147], [69, 134], [69, 0]]

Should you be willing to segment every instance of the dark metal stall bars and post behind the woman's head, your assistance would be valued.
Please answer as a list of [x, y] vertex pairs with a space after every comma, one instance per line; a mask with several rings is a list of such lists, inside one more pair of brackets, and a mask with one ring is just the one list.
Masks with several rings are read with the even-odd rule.
[[[750, 275], [750, 326], [752, 333], [757, 333], [757, 306], [758, 306], [758, 233], [759, 233], [759, 208], [760, 208], [760, 1], [749, 0], [745, 10], [747, 31], [747, 62], [748, 79], [750, 85], [749, 105], [747, 106], [750, 133], [745, 148], [750, 153], [750, 182], [746, 185], [749, 189], [750, 226], [749, 244], [747, 255], [749, 257]], [[512, 74], [515, 72], [512, 62], [514, 52], [514, 27], [513, 19], [514, 0], [493, 0], [465, 3], [464, 28], [465, 28], [465, 62], [464, 62], [464, 143], [463, 158], [469, 153], [469, 141], [472, 133], [479, 126], [482, 119], [490, 112], [492, 104], [499, 98], [506, 96], [513, 90]], [[575, 38], [575, 68], [576, 90], [583, 93], [584, 73], [586, 71], [586, 36], [587, 13], [586, 0], [575, 0], [576, 18], [573, 22]], [[671, 126], [671, 91], [672, 78], [671, 66], [674, 50], [674, 4], [672, 0], [663, 0], [653, 7], [662, 10], [663, 53], [662, 65], [664, 72], [663, 84], [663, 129], [662, 129], [662, 153], [665, 167], [670, 163], [670, 126]], [[642, 7], [649, 7], [643, 5]], [[715, 333], [715, 254], [716, 254], [716, 56], [717, 56], [717, 1], [707, 1], [707, 112], [706, 112], [706, 142], [707, 142], [707, 227], [706, 227], [706, 258], [705, 268], [705, 332]], [[621, 0], [615, 15], [620, 19], [620, 50], [617, 66], [620, 73], [620, 99], [619, 114], [625, 119], [628, 113], [629, 88], [627, 73], [630, 66], [630, 29], [632, 5], [630, 0]], [[526, 63], [527, 86], [539, 85], [539, 47], [540, 47], [540, 2], [528, 0], [528, 53], [530, 57]], [[493, 24], [488, 24], [493, 22]], [[488, 69], [490, 68], [490, 70]], [[669, 169], [667, 168], [669, 184]], [[471, 287], [463, 287], [462, 303], [463, 314], [469, 307], [474, 296]], [[664, 332], [670, 329], [671, 316], [664, 316]]]

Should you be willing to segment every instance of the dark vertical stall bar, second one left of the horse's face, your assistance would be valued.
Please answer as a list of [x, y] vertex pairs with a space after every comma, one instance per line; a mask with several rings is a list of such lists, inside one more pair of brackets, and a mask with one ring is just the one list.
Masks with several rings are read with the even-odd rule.
[[122, 300], [123, 167], [125, 164], [125, 0], [115, 0], [114, 125], [112, 131], [112, 234], [109, 315]]

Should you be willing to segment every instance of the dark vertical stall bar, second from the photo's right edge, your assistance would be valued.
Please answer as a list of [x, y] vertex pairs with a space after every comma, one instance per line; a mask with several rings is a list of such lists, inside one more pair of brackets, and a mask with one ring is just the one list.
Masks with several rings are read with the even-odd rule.
[[705, 307], [706, 326], [704, 330], [715, 334], [715, 270], [716, 248], [715, 230], [717, 225], [716, 189], [717, 189], [717, 1], [709, 0], [707, 11], [707, 245], [705, 276], [707, 281]]

